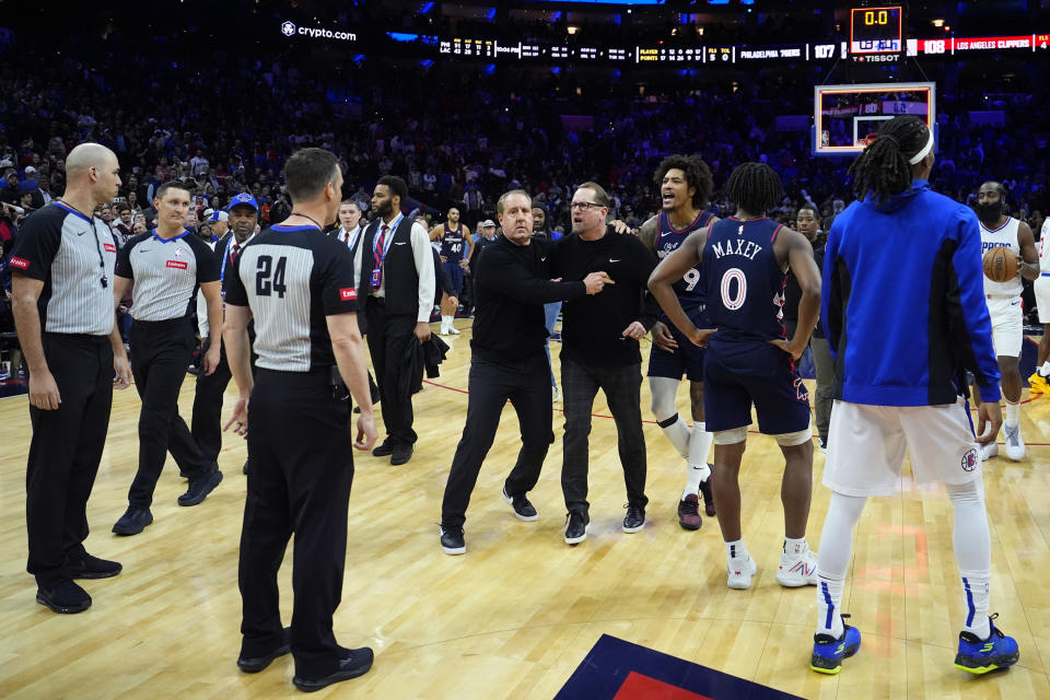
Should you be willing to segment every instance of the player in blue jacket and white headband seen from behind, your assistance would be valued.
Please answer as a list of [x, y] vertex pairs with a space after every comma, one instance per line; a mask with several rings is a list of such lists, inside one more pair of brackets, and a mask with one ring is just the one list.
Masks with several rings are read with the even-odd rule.
[[[995, 440], [1002, 418], [980, 232], [969, 209], [930, 190], [933, 163], [933, 135], [921, 119], [883, 122], [850, 167], [861, 201], [828, 234], [820, 315], [837, 369], [824, 470], [831, 499], [809, 662], [824, 674], [839, 673], [861, 645], [840, 614], [853, 529], [868, 497], [897, 492], [906, 450], [915, 481], [943, 481], [955, 511], [967, 605], [956, 667], [983, 674], [1017, 661], [1017, 643], [988, 616], [991, 542], [978, 443]], [[978, 440], [960, 396], [966, 371], [983, 399]]]

